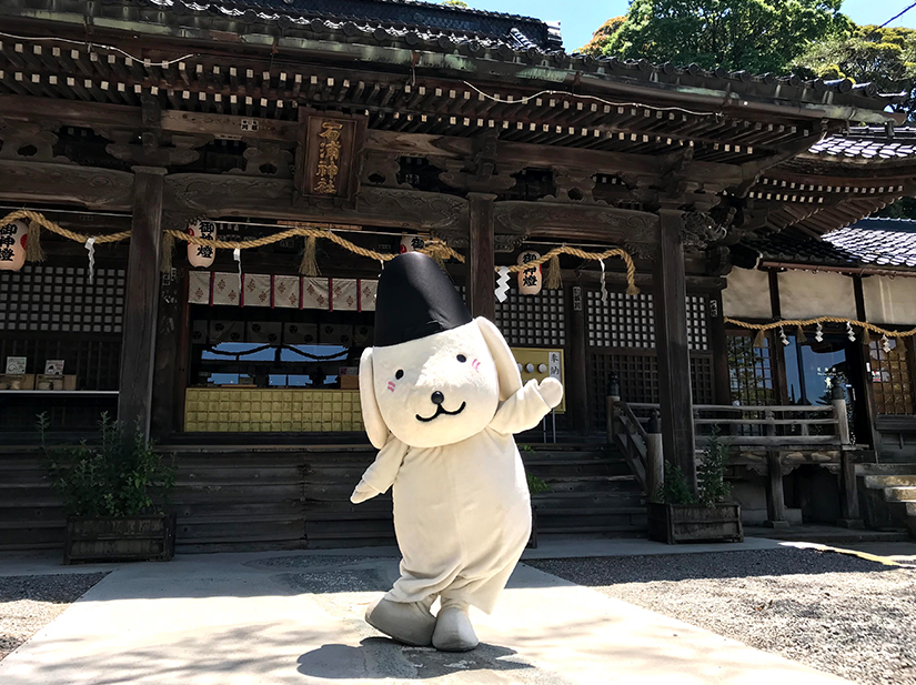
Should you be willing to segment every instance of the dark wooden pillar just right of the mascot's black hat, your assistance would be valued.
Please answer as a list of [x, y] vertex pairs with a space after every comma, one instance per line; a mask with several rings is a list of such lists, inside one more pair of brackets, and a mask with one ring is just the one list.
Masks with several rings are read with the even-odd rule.
[[472, 316], [496, 316], [496, 264], [493, 201], [496, 195], [469, 193], [469, 255], [466, 296]]

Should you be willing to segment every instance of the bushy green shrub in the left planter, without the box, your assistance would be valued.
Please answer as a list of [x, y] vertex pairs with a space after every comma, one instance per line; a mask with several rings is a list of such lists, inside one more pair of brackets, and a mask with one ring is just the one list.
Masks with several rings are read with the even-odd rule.
[[99, 444], [49, 447], [46, 414], [38, 419], [46, 470], [70, 516], [162, 514], [175, 482], [174, 455], [153, 451], [140, 427], [133, 435], [107, 413], [99, 421]]

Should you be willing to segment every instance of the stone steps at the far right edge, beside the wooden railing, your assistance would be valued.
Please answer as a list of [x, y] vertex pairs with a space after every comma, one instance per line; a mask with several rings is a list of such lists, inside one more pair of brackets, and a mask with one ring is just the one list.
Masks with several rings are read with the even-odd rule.
[[916, 464], [856, 464], [856, 476], [865, 525], [916, 537]]

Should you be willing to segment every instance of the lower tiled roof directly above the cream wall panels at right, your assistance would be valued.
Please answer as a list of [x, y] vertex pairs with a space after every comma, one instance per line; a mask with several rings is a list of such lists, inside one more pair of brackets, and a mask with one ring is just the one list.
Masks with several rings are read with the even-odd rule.
[[764, 261], [824, 266], [916, 268], [916, 221], [862, 219], [823, 240], [784, 231], [746, 236], [742, 245]]

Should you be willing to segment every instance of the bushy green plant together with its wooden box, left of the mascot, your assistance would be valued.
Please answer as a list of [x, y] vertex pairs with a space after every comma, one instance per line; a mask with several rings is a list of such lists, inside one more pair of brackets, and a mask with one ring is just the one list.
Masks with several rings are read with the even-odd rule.
[[107, 413], [98, 444], [49, 447], [49, 425], [41, 414], [46, 469], [67, 512], [63, 563], [172, 558], [175, 520], [165, 507], [175, 482], [174, 455], [157, 453], [139, 426], [128, 434]]

